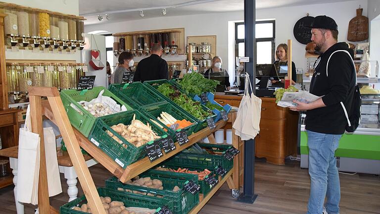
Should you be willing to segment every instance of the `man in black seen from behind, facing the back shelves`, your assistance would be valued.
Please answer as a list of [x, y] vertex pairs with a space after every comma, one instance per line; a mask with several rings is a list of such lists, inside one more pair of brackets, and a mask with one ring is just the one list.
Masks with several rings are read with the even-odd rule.
[[137, 65], [133, 81], [169, 79], [168, 63], [161, 58], [161, 54], [161, 45], [153, 44], [151, 55], [142, 59]]

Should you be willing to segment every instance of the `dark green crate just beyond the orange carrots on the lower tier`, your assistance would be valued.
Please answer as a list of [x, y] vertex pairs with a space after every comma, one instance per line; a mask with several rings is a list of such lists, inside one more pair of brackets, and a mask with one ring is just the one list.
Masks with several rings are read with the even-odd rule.
[[179, 167], [203, 167], [209, 170], [215, 168], [215, 166], [222, 166], [224, 169], [229, 171], [234, 166], [234, 160], [227, 160], [223, 158], [223, 152], [225, 152], [231, 146], [229, 145], [218, 145], [218, 144], [201, 144], [197, 143], [202, 149], [206, 149], [215, 155], [206, 154], [193, 154], [181, 152], [176, 156], [168, 159], [166, 163], [176, 164]]

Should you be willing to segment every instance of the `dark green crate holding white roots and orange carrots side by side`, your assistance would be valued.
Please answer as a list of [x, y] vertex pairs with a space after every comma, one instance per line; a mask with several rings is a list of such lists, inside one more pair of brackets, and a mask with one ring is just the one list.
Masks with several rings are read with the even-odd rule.
[[160, 114], [162, 111], [169, 113], [170, 115], [172, 115], [174, 118], [176, 118], [178, 120], [186, 119], [186, 120], [190, 121], [191, 123], [193, 123], [192, 125], [190, 125], [186, 128], [183, 128], [183, 130], [185, 130], [185, 132], [188, 136], [190, 136], [192, 134], [192, 132], [194, 131], [195, 127], [198, 124], [192, 117], [190, 117], [188, 114], [183, 112], [180, 108], [175, 107], [174, 105], [172, 105], [171, 103], [168, 103], [168, 102], [163, 102], [163, 103], [159, 103], [159, 104], [153, 104], [150, 106], [145, 106], [145, 107], [142, 107], [141, 111], [147, 117], [156, 120], [160, 125], [165, 127], [168, 130], [167, 132], [171, 136], [173, 136], [174, 138], [175, 138], [175, 131], [172, 130], [171, 128], [167, 127], [166, 124], [163, 124], [158, 119], [156, 119], [157, 117], [160, 117]]

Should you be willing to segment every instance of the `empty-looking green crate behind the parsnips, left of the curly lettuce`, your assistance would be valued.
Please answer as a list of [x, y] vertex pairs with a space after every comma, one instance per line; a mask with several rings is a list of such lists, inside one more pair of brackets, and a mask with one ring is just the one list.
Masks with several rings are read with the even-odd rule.
[[141, 82], [112, 84], [108, 90], [135, 109], [165, 101]]

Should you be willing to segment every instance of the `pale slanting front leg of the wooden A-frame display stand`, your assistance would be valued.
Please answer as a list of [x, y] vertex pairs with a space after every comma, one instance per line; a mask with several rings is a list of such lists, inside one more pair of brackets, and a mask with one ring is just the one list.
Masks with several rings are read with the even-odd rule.
[[70, 159], [73, 162], [74, 169], [77, 172], [79, 181], [83, 188], [83, 192], [86, 195], [86, 199], [91, 207], [92, 212], [96, 214], [105, 214], [103, 205], [99, 198], [99, 194], [97, 193], [94, 184], [94, 180], [92, 179], [89, 168], [86, 165], [86, 161], [82, 155], [82, 151], [79, 147], [77, 138], [75, 137], [65, 108], [63, 107], [61, 98], [59, 96], [47, 97], [47, 100], [49, 101], [51, 110], [55, 117], [55, 122], [57, 123], [59, 131], [63, 136], [67, 152], [69, 153]]

